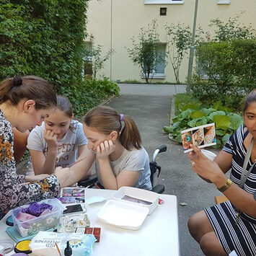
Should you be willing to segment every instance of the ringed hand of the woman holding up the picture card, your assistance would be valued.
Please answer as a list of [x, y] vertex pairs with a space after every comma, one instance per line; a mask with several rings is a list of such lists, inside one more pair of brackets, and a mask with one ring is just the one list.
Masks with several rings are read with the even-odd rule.
[[211, 182], [216, 183], [216, 180], [219, 179], [219, 177], [223, 176], [224, 173], [221, 171], [221, 168], [219, 167], [219, 164], [216, 162], [212, 162], [210, 159], [208, 159], [201, 151], [198, 149], [198, 147], [194, 145], [190, 145], [191, 149], [194, 151], [190, 151], [187, 153], [187, 156], [190, 158], [190, 164], [192, 166], [192, 169], [200, 175], [200, 177], [203, 177], [206, 180], [211, 180]]

